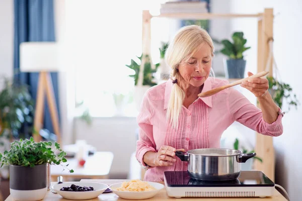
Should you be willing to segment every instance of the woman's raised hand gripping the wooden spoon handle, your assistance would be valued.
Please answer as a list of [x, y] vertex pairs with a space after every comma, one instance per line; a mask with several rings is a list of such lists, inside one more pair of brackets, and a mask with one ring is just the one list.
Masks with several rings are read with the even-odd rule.
[[[248, 75], [251, 76], [253, 73], [248, 72]], [[262, 77], [249, 79], [248, 81], [242, 82], [240, 85], [254, 93], [258, 98], [263, 98], [268, 90], [268, 80]]]

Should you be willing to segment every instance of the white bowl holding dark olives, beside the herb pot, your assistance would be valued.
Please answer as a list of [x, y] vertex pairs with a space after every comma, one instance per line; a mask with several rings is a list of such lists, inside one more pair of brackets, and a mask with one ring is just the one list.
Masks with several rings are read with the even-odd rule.
[[[60, 190], [62, 187], [70, 186], [71, 184], [80, 185], [80, 186], [92, 186], [94, 190], [92, 191], [63, 191]], [[100, 194], [102, 194], [107, 188], [108, 185], [104, 183], [96, 183], [96, 182], [81, 182], [81, 181], [73, 181], [73, 182], [63, 182], [60, 184], [55, 184], [51, 186], [51, 188], [57, 192], [59, 195], [66, 199], [93, 199]]]

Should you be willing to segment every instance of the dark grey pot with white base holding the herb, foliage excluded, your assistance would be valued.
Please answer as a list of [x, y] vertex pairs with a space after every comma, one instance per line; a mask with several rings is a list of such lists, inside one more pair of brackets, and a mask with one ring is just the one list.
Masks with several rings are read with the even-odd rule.
[[10, 193], [14, 200], [41, 200], [45, 197], [46, 192], [46, 164], [34, 167], [10, 165]]

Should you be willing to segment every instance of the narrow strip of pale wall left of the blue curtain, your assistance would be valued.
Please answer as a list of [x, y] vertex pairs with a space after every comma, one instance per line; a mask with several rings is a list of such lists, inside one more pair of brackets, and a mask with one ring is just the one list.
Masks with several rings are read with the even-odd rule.
[[[0, 77], [13, 75], [14, 1], [0, 1]], [[0, 79], [0, 88], [3, 80]]]

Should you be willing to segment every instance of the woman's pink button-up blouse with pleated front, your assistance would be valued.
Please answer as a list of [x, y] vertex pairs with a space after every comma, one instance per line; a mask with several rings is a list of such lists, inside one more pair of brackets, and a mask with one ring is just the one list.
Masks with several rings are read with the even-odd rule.
[[[203, 91], [228, 84], [226, 80], [208, 77]], [[220, 137], [234, 121], [268, 136], [279, 136], [283, 132], [279, 109], [277, 120], [266, 123], [262, 112], [238, 90], [224, 89], [209, 97], [199, 97], [189, 108], [181, 109], [179, 126], [173, 129], [167, 123], [166, 113], [172, 89], [172, 80], [151, 87], [145, 93], [137, 116], [139, 140], [136, 158], [143, 165], [143, 155], [147, 151], [157, 152], [162, 145], [186, 151], [200, 148], [219, 148]], [[146, 173], [146, 181], [163, 181], [164, 171], [186, 171], [187, 163], [178, 157], [172, 166], [151, 167]]]

